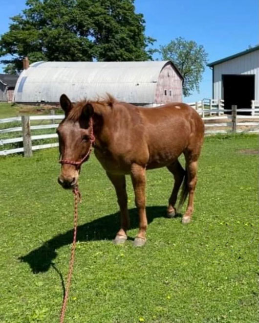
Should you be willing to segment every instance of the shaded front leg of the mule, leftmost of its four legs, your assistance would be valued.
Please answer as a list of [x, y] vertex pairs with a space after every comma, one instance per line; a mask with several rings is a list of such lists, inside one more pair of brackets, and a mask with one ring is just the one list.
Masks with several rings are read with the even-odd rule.
[[115, 244], [124, 243], [127, 240], [127, 229], [129, 228], [129, 213], [128, 213], [128, 196], [126, 191], [126, 180], [124, 175], [114, 175], [107, 172], [107, 176], [114, 185], [118, 204], [121, 212], [121, 228], [117, 232], [114, 239]]

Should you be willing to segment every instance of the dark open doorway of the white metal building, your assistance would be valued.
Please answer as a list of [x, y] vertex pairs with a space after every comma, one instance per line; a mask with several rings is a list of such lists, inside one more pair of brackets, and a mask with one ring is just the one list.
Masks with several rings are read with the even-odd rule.
[[225, 109], [237, 105], [237, 114], [251, 115], [251, 112], [238, 113], [238, 109], [251, 109], [251, 100], [255, 99], [255, 75], [222, 75], [222, 84]]

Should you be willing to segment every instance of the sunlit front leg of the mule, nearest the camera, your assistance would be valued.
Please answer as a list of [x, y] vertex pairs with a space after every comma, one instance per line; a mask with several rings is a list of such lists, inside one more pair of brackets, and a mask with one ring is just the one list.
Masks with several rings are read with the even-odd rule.
[[146, 215], [146, 169], [140, 165], [132, 164], [131, 180], [135, 192], [135, 204], [139, 215], [139, 231], [134, 240], [134, 246], [143, 246], [146, 242], [146, 231], [148, 227]]

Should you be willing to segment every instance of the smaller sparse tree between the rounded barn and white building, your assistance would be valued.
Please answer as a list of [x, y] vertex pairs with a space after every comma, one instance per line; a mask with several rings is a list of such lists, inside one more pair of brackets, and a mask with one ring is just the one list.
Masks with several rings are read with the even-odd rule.
[[172, 60], [184, 77], [183, 95], [199, 92], [199, 83], [207, 64], [208, 54], [202, 45], [178, 37], [166, 46], [160, 46], [164, 60]]

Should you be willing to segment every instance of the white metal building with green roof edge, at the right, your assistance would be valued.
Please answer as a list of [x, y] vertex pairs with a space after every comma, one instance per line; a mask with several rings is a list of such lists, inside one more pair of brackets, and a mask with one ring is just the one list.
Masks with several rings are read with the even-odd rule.
[[223, 99], [225, 108], [251, 109], [259, 101], [259, 46], [208, 64], [213, 69], [213, 98]]

